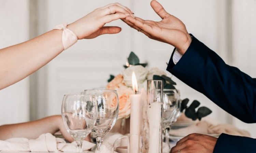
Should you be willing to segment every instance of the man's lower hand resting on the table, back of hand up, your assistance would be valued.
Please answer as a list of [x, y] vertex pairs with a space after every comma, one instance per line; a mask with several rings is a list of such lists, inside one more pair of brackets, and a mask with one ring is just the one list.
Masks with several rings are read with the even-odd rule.
[[178, 141], [171, 153], [212, 153], [216, 141], [215, 137], [193, 133]]

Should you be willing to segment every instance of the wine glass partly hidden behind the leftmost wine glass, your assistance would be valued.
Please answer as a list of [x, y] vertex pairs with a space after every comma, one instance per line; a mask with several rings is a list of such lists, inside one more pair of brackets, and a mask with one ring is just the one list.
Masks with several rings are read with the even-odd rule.
[[92, 89], [84, 90], [84, 95], [89, 96], [96, 103], [96, 123], [92, 133], [96, 136], [97, 152], [100, 152], [102, 139], [108, 133], [117, 120], [119, 101], [116, 90]]

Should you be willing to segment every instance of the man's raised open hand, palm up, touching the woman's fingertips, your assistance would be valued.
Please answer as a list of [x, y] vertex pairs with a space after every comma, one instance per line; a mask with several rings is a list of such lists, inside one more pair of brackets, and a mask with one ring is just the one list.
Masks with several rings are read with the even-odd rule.
[[188, 34], [185, 25], [178, 18], [167, 13], [162, 5], [156, 0], [151, 2], [154, 11], [162, 18], [161, 21], [143, 20], [141, 18], [125, 18], [130, 27], [144, 33], [151, 39], [168, 43], [177, 48], [183, 55], [191, 43], [191, 36]]

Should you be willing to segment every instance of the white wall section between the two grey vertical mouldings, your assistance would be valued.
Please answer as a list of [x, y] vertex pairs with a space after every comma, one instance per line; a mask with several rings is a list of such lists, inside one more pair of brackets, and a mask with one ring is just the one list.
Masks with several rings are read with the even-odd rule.
[[[108, 0], [76, 2], [69, 0], [47, 0], [45, 2], [44, 26], [42, 29], [51, 30], [61, 22], [71, 23], [97, 7], [112, 2], [120, 2], [135, 13], [136, 16], [160, 20], [150, 6], [150, 0]], [[190, 33], [202, 40], [210, 48], [227, 58], [226, 53], [226, 1], [222, 0], [159, 0], [166, 10], [179, 17], [187, 26]], [[188, 13], [189, 12], [189, 13]], [[219, 16], [221, 14], [221, 16]], [[80, 40], [67, 51], [50, 62], [43, 74], [46, 75], [42, 85], [43, 92], [38, 95], [44, 106], [44, 112], [39, 117], [60, 114], [60, 106], [64, 94], [80, 93], [84, 89], [102, 87], [106, 85], [109, 74], [118, 74], [123, 70], [123, 65], [130, 51], [134, 51], [141, 61], [148, 62], [149, 67], [159, 67], [165, 70], [172, 53], [173, 47], [148, 39], [142, 33], [131, 29], [122, 21], [114, 21], [108, 25], [120, 26], [123, 31], [116, 35], [104, 35], [96, 39]], [[39, 71], [39, 73], [42, 73]], [[171, 74], [170, 74], [171, 75]], [[39, 79], [41, 80], [41, 79]], [[205, 96], [191, 89], [181, 81], [174, 78], [178, 88], [182, 92], [182, 98], [197, 99], [202, 105], [210, 107], [213, 111], [212, 117], [228, 122], [228, 115]], [[40, 89], [40, 87], [39, 87]], [[43, 103], [43, 104], [42, 104]]]

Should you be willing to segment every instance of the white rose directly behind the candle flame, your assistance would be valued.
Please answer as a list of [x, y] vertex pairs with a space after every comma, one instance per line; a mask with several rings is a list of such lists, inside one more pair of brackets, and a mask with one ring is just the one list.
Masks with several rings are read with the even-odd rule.
[[148, 70], [146, 68], [144, 68], [141, 65], [135, 65], [135, 66], [131, 66], [126, 68], [123, 71], [123, 75], [124, 75], [124, 82], [127, 86], [132, 87], [132, 71], [134, 71], [135, 75], [136, 75], [136, 79], [138, 81], [138, 84], [140, 86], [140, 84], [142, 84], [146, 79], [147, 79], [147, 72]]

